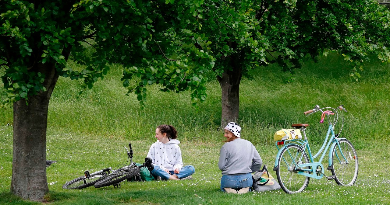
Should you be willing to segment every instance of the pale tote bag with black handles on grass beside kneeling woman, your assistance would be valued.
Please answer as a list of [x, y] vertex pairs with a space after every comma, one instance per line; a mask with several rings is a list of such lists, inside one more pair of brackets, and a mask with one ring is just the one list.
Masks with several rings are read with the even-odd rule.
[[263, 166], [262, 170], [252, 174], [252, 191], [271, 191], [280, 189], [280, 185], [269, 174], [267, 165]]

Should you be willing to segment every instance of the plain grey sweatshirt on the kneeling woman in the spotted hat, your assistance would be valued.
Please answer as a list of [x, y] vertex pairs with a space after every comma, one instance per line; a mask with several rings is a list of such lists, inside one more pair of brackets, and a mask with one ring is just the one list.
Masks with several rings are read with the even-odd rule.
[[236, 138], [222, 146], [218, 168], [222, 170], [222, 175], [241, 175], [259, 170], [262, 163], [251, 142]]

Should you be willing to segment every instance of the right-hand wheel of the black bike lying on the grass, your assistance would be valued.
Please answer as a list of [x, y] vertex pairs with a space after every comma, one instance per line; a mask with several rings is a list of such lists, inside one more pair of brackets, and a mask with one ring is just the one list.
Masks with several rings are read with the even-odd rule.
[[119, 183], [123, 180], [130, 179], [131, 177], [136, 176], [140, 173], [139, 168], [134, 168], [131, 170], [119, 170], [118, 172], [113, 172], [106, 177], [104, 177], [102, 180], [94, 184], [95, 188], [110, 186], [112, 184]]

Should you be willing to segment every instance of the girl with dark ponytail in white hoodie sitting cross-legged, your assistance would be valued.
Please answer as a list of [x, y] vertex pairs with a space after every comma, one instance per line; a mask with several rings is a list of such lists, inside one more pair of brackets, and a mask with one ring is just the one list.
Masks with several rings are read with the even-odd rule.
[[191, 165], [183, 167], [176, 129], [172, 125], [161, 124], [156, 128], [155, 137], [157, 142], [152, 144], [147, 154], [154, 165], [152, 175], [165, 180], [192, 179], [195, 168]]

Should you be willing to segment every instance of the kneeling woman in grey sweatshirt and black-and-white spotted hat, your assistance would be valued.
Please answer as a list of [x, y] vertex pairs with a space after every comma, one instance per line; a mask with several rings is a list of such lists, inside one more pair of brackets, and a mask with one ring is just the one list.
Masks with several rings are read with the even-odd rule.
[[227, 124], [225, 137], [226, 143], [218, 161], [218, 168], [222, 171], [221, 191], [247, 193], [253, 183], [251, 173], [261, 168], [262, 159], [251, 142], [241, 139], [238, 124]]

